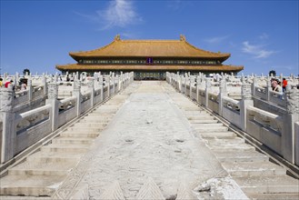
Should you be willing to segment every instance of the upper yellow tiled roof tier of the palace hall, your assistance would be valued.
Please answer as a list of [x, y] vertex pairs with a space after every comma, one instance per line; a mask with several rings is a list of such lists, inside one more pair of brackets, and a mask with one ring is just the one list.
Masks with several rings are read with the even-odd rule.
[[121, 40], [119, 35], [116, 35], [115, 40], [109, 45], [91, 51], [71, 52], [69, 55], [75, 60], [79, 57], [97, 56], [157, 56], [220, 58], [223, 61], [230, 56], [230, 54], [204, 51], [190, 45], [183, 35], [180, 40]]

